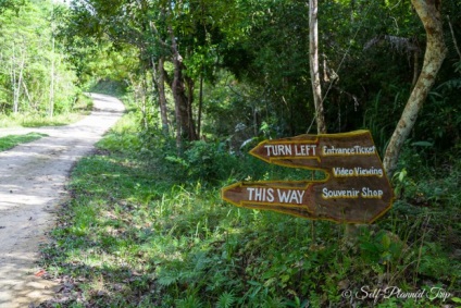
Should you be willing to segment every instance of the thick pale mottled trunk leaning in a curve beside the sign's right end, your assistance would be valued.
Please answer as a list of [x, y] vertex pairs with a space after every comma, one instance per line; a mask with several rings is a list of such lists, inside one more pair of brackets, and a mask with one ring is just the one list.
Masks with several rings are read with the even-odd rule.
[[437, 7], [439, 1], [412, 0], [411, 2], [424, 25], [427, 42], [420, 77], [410, 95], [384, 156], [384, 168], [389, 177], [393, 176], [397, 168], [401, 147], [416, 122], [418, 113], [435, 83], [438, 70], [447, 53], [444, 42], [440, 8]]

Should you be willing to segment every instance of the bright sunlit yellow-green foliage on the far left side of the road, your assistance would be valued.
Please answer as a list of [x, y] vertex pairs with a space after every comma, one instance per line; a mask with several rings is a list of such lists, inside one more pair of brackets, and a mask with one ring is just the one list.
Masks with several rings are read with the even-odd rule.
[[73, 110], [75, 74], [54, 40], [51, 1], [23, 1], [0, 14], [0, 112], [42, 118]]

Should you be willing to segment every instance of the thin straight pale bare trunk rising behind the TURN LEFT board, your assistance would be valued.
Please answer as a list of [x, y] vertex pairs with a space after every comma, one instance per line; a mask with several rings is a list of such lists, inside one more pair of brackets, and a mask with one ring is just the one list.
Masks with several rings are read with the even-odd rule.
[[325, 116], [322, 101], [322, 87], [319, 72], [319, 21], [317, 0], [309, 0], [309, 63], [311, 71], [312, 94], [315, 106], [317, 133], [326, 133]]

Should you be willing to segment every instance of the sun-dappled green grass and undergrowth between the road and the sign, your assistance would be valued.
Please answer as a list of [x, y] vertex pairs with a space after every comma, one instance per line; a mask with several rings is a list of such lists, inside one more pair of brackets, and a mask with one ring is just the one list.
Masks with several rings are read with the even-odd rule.
[[[285, 175], [257, 170], [251, 158], [234, 163], [203, 143], [172, 159], [169, 141], [139, 133], [138, 120], [125, 115], [73, 171], [73, 198], [62, 206], [41, 260], [48, 276], [64, 284], [40, 307], [440, 307], [461, 300], [460, 165], [447, 176], [397, 176], [406, 193], [394, 209], [351, 236], [340, 224], [222, 201], [221, 187], [234, 181]], [[232, 165], [216, 171], [224, 160]], [[432, 296], [374, 296], [386, 286]], [[436, 297], [434, 289], [450, 296]]]

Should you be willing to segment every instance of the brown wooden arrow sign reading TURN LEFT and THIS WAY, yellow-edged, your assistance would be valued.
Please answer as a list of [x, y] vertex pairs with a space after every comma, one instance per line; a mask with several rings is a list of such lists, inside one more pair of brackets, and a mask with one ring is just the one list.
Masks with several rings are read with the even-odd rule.
[[326, 178], [239, 182], [224, 187], [222, 198], [237, 207], [372, 223], [393, 204], [394, 193], [369, 131], [265, 140], [250, 153], [269, 163], [322, 170]]

